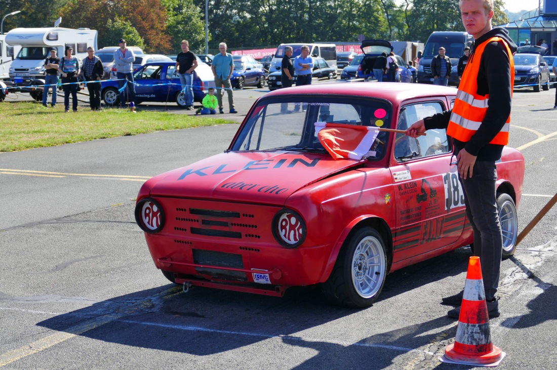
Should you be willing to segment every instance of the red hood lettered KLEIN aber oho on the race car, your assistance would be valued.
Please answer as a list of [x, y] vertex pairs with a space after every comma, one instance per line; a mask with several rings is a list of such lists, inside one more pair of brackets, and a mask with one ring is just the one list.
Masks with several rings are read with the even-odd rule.
[[284, 204], [295, 191], [365, 161], [287, 151], [224, 152], [148, 184], [152, 196]]

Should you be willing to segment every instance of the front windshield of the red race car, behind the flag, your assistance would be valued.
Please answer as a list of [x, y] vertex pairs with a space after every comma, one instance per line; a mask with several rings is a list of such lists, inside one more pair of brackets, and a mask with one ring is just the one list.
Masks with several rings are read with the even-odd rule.
[[[383, 100], [354, 97], [284, 96], [260, 101], [232, 145], [233, 151], [323, 152], [315, 122], [390, 127], [392, 107]], [[370, 159], [384, 156], [388, 132], [379, 132]]]

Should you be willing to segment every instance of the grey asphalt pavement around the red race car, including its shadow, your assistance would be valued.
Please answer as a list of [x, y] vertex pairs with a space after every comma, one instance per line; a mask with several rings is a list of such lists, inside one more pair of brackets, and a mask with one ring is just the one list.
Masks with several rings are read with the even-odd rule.
[[[222, 116], [240, 121], [264, 93], [235, 91], [240, 114]], [[526, 159], [519, 231], [557, 188], [554, 94], [515, 91], [510, 146]], [[284, 298], [183, 293], [163, 277], [135, 224], [135, 196], [149, 177], [222, 152], [237, 129], [0, 153], [0, 367], [472, 368], [439, 362], [456, 333], [439, 302], [462, 289], [467, 247], [390, 274], [378, 302], [360, 310], [329, 305], [317, 287]], [[557, 368], [556, 250], [557, 207], [502, 262], [501, 317], [490, 322], [507, 353], [501, 369]]]

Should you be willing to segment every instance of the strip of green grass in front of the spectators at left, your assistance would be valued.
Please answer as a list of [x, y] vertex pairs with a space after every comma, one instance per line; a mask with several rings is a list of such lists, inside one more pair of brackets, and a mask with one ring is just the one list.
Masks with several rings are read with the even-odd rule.
[[143, 111], [140, 107], [136, 114], [127, 109], [105, 108], [102, 111], [91, 111], [81, 106], [76, 113], [65, 113], [62, 104], [52, 108], [50, 105], [43, 107], [35, 102], [2, 102], [0, 152], [237, 123], [213, 117]]

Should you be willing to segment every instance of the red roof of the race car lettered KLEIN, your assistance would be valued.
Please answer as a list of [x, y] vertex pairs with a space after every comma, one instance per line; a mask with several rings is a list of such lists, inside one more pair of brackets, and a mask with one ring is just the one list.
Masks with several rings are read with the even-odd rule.
[[353, 82], [353, 83], [324, 83], [323, 85], [305, 85], [295, 88], [278, 89], [267, 93], [264, 97], [280, 95], [336, 95], [363, 96], [383, 98], [393, 103], [411, 98], [455, 96], [454, 87], [425, 85], [421, 83], [392, 83], [392, 82]]

